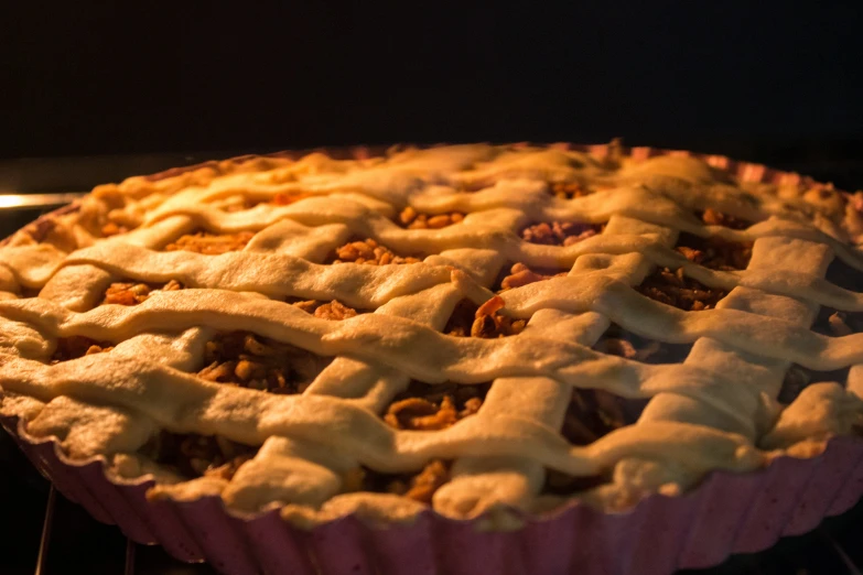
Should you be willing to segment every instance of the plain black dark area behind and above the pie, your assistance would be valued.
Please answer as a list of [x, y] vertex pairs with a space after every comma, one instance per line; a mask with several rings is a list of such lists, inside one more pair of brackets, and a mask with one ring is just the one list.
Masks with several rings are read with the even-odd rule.
[[14, 2], [0, 158], [617, 135], [848, 154], [863, 2], [799, 4]]

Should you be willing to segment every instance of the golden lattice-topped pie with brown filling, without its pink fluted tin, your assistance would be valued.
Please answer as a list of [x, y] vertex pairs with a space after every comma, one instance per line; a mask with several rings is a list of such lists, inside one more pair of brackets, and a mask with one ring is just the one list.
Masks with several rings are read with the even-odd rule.
[[616, 145], [133, 177], [0, 248], [2, 410], [304, 524], [624, 509], [860, 426], [861, 208]]

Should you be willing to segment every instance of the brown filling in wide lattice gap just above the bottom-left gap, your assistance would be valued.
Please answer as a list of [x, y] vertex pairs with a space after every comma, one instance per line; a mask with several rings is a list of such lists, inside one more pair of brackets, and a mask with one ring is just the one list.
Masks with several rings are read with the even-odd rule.
[[301, 393], [326, 367], [324, 358], [248, 332], [222, 334], [208, 341], [198, 376], [218, 383], [270, 393]]

